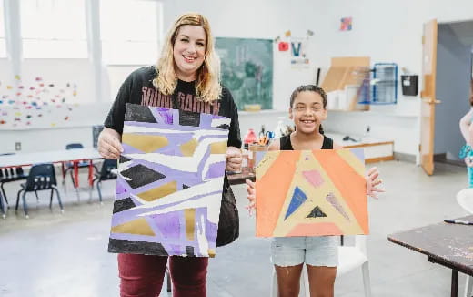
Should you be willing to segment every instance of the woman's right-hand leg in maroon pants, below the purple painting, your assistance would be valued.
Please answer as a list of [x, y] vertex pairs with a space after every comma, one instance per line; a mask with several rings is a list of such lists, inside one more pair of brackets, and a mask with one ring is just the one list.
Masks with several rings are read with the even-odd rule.
[[208, 258], [172, 256], [169, 271], [174, 297], [206, 297]]

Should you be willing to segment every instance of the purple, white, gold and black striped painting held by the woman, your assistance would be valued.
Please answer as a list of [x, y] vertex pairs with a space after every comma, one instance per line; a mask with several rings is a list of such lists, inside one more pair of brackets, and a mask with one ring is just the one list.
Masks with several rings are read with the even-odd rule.
[[213, 257], [230, 119], [126, 105], [108, 251]]

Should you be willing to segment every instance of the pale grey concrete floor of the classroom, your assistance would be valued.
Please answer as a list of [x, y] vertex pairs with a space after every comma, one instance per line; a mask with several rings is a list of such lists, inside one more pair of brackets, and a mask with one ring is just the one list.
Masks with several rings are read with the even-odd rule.
[[[449, 296], [450, 271], [387, 241], [387, 234], [467, 215], [455, 200], [467, 185], [466, 169], [437, 164], [428, 177], [411, 163], [377, 164], [387, 193], [369, 201], [367, 240], [374, 296]], [[9, 210], [0, 220], [0, 296], [118, 296], [116, 255], [106, 252], [114, 182], [105, 183], [104, 205], [81, 192], [63, 193], [65, 213], [47, 208], [47, 192], [29, 196], [30, 219]], [[18, 184], [6, 185], [10, 203]], [[69, 185], [70, 188], [70, 185]], [[244, 186], [234, 187], [240, 210], [240, 238], [219, 248], [209, 264], [208, 296], [269, 296], [272, 267], [269, 241], [254, 237], [255, 219], [247, 215]], [[349, 241], [349, 239], [348, 239]], [[460, 274], [460, 292], [465, 276]], [[167, 296], [163, 292], [161, 296]], [[336, 296], [364, 296], [361, 271], [337, 278]]]

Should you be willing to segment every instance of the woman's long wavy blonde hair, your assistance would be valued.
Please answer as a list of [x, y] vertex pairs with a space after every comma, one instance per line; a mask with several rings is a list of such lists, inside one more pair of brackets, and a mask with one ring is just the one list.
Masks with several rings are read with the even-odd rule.
[[177, 77], [174, 63], [174, 43], [181, 26], [201, 26], [206, 31], [206, 54], [204, 63], [197, 70], [196, 97], [211, 102], [218, 99], [222, 93], [220, 86], [220, 60], [214, 49], [214, 40], [210, 32], [210, 25], [204, 15], [188, 13], [179, 16], [174, 26], [169, 30], [163, 46], [161, 57], [157, 62], [157, 77], [153, 85], [163, 94], [171, 95], [177, 86]]

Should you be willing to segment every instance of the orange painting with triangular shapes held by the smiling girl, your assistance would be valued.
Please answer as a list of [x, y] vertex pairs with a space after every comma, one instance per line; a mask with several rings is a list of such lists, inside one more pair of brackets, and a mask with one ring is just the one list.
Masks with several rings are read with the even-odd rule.
[[267, 152], [257, 165], [257, 236], [368, 234], [362, 148]]

